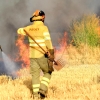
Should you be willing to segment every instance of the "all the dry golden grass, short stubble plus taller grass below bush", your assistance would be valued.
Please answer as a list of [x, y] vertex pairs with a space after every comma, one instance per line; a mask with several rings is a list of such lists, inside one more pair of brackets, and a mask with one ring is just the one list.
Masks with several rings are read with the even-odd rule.
[[[45, 100], [100, 100], [100, 48], [80, 48], [64, 52], [67, 65], [53, 72]], [[18, 74], [14, 80], [0, 76], [0, 100], [33, 100], [29, 70]]]

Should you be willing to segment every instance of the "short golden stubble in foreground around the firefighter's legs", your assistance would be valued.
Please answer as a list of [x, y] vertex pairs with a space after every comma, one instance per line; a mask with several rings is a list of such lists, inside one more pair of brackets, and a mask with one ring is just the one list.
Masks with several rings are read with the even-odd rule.
[[[0, 76], [0, 100], [33, 100], [31, 76], [21, 70], [22, 76], [12, 80]], [[100, 65], [66, 65], [54, 71], [45, 100], [100, 100]], [[42, 77], [42, 76], [41, 76]]]

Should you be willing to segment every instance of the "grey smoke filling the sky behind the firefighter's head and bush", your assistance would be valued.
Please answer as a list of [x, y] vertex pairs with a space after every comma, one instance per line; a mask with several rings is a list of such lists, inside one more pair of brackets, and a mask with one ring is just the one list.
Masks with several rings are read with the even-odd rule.
[[45, 12], [45, 24], [57, 45], [72, 20], [88, 13], [100, 15], [100, 0], [0, 0], [0, 45], [6, 54], [16, 54], [16, 31], [31, 24], [29, 18], [36, 9]]

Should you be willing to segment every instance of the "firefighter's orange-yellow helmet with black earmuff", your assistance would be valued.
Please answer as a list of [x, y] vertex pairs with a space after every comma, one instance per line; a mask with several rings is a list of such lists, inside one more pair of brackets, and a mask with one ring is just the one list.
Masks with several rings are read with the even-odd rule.
[[41, 10], [36, 10], [32, 17], [30, 18], [30, 22], [33, 22], [33, 21], [44, 21], [44, 18], [45, 18], [45, 13]]

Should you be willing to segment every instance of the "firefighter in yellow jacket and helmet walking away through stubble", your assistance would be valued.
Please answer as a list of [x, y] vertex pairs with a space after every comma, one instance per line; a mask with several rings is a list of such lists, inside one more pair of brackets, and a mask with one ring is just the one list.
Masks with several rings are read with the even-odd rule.
[[[35, 41], [46, 51], [44, 51], [32, 40], [29, 39], [29, 58], [30, 73], [32, 75], [32, 89], [34, 98], [45, 98], [47, 96], [48, 86], [50, 83], [53, 70], [54, 48], [52, 45], [49, 29], [44, 25], [45, 13], [36, 10], [30, 22], [31, 25], [19, 28], [19, 35], [27, 35], [25, 31], [35, 39]], [[25, 30], [25, 31], [24, 31]], [[50, 60], [48, 59], [50, 58]], [[43, 71], [43, 77], [40, 80], [40, 72]]]

